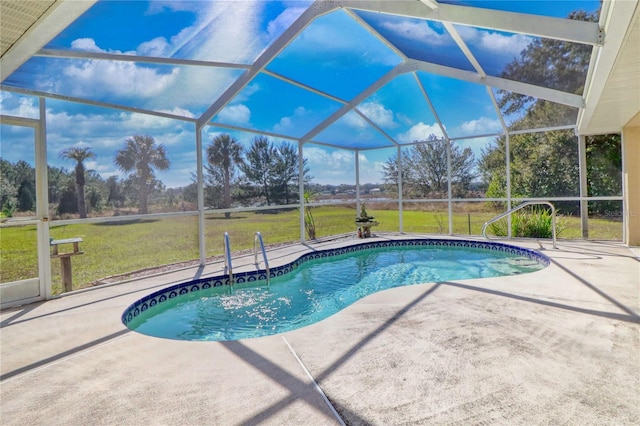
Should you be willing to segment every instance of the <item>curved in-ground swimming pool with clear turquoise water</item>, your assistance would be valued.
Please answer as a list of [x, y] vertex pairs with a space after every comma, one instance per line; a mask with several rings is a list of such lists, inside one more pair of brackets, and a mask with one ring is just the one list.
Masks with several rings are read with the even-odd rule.
[[123, 323], [142, 334], [178, 340], [238, 340], [321, 321], [388, 288], [537, 271], [549, 259], [502, 243], [412, 239], [308, 253], [266, 272], [177, 284], [129, 306]]

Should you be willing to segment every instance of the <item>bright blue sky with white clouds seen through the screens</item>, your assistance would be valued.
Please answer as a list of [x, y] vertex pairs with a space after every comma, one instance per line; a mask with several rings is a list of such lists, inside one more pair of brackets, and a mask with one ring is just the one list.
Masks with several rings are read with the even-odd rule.
[[[566, 16], [571, 10], [592, 11], [598, 1], [447, 1], [478, 7]], [[91, 52], [251, 64], [309, 6], [309, 1], [106, 1], [60, 33], [46, 47]], [[291, 141], [312, 131], [402, 61], [401, 55], [438, 65], [473, 70], [443, 25], [401, 16], [338, 10], [316, 19], [251, 81], [220, 113], [215, 123], [264, 130]], [[402, 52], [381, 42], [359, 24], [366, 22]], [[487, 74], [498, 76], [532, 37], [456, 26]], [[4, 84], [60, 93], [94, 101], [199, 117], [242, 73], [242, 68], [155, 65], [128, 61], [32, 58]], [[295, 80], [330, 95], [290, 84]], [[445, 131], [463, 138], [499, 132], [499, 118], [484, 86], [424, 72], [403, 74], [357, 106], [375, 126], [400, 143], [411, 143], [442, 130], [422, 91], [426, 91]], [[2, 113], [38, 116], [38, 100], [0, 93]], [[186, 185], [195, 172], [195, 125], [157, 116], [99, 108], [60, 100], [47, 101], [50, 164], [73, 167], [58, 153], [71, 146], [90, 146], [96, 159], [89, 169], [103, 177], [120, 176], [113, 158], [124, 141], [147, 134], [163, 143], [171, 169], [158, 174], [168, 186]], [[510, 119], [510, 118], [509, 118]], [[569, 124], [569, 123], [568, 123]], [[353, 183], [354, 153], [321, 144], [353, 147], [387, 146], [375, 126], [350, 112], [316, 132], [304, 155], [318, 183]], [[2, 126], [3, 158], [33, 163], [32, 136]], [[228, 132], [248, 145], [256, 134], [205, 127], [206, 144]], [[479, 155], [491, 138], [468, 139]], [[384, 162], [395, 149], [361, 151], [361, 182], [381, 182]]]

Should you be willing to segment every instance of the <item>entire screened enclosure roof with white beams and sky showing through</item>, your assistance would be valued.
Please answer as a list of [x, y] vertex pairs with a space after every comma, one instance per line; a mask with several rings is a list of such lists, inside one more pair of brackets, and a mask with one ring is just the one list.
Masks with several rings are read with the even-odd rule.
[[[77, 101], [66, 104], [71, 110], [98, 103], [350, 149], [393, 147], [430, 134], [502, 132], [484, 84], [508, 89], [492, 88], [506, 102], [511, 129], [572, 125], [578, 108], [540, 117], [525, 117], [524, 110], [536, 97], [581, 105], [599, 30], [572, 22], [563, 31], [569, 21], [562, 19], [571, 12], [593, 19], [599, 6], [590, 0], [103, 0], [2, 89], [71, 98]], [[518, 32], [518, 23], [537, 36]], [[537, 55], [533, 65], [521, 61], [526, 49]], [[577, 60], [566, 61], [562, 52]]]

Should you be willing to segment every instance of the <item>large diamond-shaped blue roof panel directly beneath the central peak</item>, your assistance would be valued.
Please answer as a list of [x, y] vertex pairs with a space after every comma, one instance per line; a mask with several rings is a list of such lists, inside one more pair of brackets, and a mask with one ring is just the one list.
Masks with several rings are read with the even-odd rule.
[[401, 61], [338, 10], [317, 18], [267, 69], [349, 101]]

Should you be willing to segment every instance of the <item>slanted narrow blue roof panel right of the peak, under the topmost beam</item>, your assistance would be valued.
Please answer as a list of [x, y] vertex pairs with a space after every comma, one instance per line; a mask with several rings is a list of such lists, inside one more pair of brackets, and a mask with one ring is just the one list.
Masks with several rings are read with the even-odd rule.
[[409, 58], [473, 71], [469, 60], [440, 22], [384, 13], [356, 13]]

